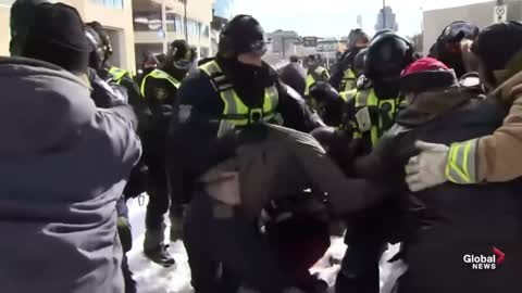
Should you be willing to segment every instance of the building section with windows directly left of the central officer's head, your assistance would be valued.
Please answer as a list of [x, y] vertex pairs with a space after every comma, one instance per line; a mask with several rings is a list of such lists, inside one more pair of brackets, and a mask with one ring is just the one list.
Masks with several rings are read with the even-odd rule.
[[[187, 39], [200, 56], [211, 52], [210, 23], [213, 0], [164, 0], [166, 31], [162, 25], [163, 0], [133, 0], [134, 40], [136, 62], [147, 53], [164, 53], [163, 39]], [[185, 17], [186, 12], [186, 17]]]

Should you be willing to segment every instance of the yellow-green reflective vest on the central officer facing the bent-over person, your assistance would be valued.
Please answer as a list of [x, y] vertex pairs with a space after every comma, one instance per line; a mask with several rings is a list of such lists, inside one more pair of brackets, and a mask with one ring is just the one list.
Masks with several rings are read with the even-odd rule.
[[278, 104], [278, 92], [275, 86], [264, 89], [262, 107], [249, 107], [245, 105], [237, 94], [234, 86], [226, 80], [225, 75], [215, 61], [206, 63], [199, 67], [212, 80], [212, 86], [223, 100], [223, 115], [221, 116], [217, 137], [222, 137], [236, 126], [247, 126], [252, 123], [272, 123], [276, 117], [275, 110]]

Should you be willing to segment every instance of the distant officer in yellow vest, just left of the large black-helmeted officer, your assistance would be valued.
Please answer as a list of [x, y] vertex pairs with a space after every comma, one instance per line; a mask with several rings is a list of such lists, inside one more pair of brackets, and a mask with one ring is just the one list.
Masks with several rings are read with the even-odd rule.
[[357, 87], [357, 76], [353, 72], [355, 59], [369, 42], [368, 35], [360, 28], [352, 29], [348, 35], [348, 50], [343, 53], [339, 65], [330, 79], [330, 84], [337, 91], [349, 91]]

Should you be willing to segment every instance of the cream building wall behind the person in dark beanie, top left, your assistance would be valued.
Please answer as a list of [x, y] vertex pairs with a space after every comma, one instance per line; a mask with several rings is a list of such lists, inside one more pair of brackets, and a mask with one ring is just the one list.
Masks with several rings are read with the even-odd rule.
[[[0, 54], [9, 55], [10, 9], [14, 0], [0, 0]], [[100, 22], [111, 37], [111, 64], [136, 73], [132, 0], [63, 0], [74, 7], [84, 22]]]

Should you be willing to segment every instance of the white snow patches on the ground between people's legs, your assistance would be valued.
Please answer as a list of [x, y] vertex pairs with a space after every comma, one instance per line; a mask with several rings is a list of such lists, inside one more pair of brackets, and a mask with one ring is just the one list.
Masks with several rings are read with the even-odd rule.
[[[192, 293], [190, 286], [190, 269], [187, 263], [187, 254], [181, 241], [171, 243], [169, 251], [176, 259], [176, 265], [164, 268], [148, 260], [142, 253], [142, 243], [145, 238], [145, 213], [147, 200], [142, 206], [139, 206], [137, 200], [128, 201], [129, 220], [133, 226], [133, 250], [127, 253], [130, 269], [134, 278], [138, 282], [139, 293]], [[165, 217], [167, 218], [167, 217]], [[166, 229], [165, 233], [167, 233]], [[165, 234], [165, 239], [169, 235]], [[398, 272], [403, 271], [403, 264], [388, 264], [386, 260], [395, 255], [398, 246], [390, 246], [383, 255], [381, 262], [381, 286], [382, 293], [390, 292], [391, 286], [387, 280], [396, 278]], [[343, 239], [332, 239], [332, 246], [325, 256], [312, 268], [312, 273], [319, 276], [333, 285], [335, 277], [340, 269], [340, 259], [346, 251]], [[332, 265], [335, 264], [335, 265]]]

